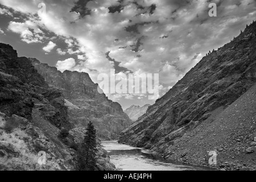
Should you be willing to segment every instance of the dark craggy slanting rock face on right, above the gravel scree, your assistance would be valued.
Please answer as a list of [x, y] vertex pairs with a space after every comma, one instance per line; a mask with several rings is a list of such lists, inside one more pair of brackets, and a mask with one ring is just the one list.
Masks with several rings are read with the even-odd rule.
[[[255, 84], [255, 35], [254, 22], [232, 42], [203, 57], [168, 93], [148, 107], [147, 113], [137, 123], [122, 132], [120, 142], [151, 148], [171, 158], [171, 152], [182, 149], [171, 150], [173, 145], [179, 146], [180, 138], [196, 131], [214, 111], [228, 107]], [[225, 122], [222, 125], [225, 126]], [[232, 134], [239, 130], [243, 131], [234, 129]], [[255, 133], [249, 136], [252, 135]], [[204, 135], [202, 139], [205, 139], [206, 148], [213, 150], [214, 146], [206, 142], [209, 136]], [[187, 138], [187, 143], [189, 141]], [[184, 147], [187, 150], [189, 147], [200, 148]], [[182, 158], [181, 155], [179, 157]]]

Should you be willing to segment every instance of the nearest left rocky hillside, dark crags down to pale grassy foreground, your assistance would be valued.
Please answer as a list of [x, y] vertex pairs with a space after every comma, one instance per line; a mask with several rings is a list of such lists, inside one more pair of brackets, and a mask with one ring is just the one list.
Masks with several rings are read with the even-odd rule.
[[[73, 170], [76, 133], [64, 141], [61, 129], [74, 129], [59, 89], [49, 86], [26, 57], [0, 43], [0, 170]], [[114, 169], [99, 147], [98, 169]], [[38, 153], [46, 152], [46, 165]]]

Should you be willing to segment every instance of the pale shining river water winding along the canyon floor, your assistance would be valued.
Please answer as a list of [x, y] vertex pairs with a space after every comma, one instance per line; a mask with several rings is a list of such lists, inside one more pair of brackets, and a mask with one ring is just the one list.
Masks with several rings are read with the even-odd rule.
[[188, 166], [164, 160], [151, 154], [149, 150], [119, 144], [117, 141], [101, 143], [109, 152], [110, 162], [118, 171], [201, 171], [210, 168]]

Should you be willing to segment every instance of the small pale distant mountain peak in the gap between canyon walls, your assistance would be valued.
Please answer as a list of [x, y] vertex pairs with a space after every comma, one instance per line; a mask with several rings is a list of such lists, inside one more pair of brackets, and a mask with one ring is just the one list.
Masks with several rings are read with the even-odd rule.
[[129, 116], [132, 121], [137, 121], [139, 117], [146, 113], [147, 108], [150, 104], [144, 105], [142, 107], [132, 105], [128, 109], [125, 110], [125, 113]]

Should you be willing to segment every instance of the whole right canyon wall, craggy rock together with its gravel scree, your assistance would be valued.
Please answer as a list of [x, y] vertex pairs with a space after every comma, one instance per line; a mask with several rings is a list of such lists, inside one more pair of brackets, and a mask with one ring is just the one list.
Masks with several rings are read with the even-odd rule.
[[[168, 93], [148, 107], [137, 123], [122, 132], [120, 142], [150, 148], [169, 159], [200, 165], [207, 165], [208, 152], [219, 147], [226, 152], [229, 162], [221, 153], [218, 167], [223, 167], [225, 162], [237, 162], [237, 168], [230, 166], [228, 169], [255, 168], [255, 149], [247, 151], [256, 137], [256, 125], [251, 120], [255, 119], [255, 110], [250, 113], [254, 117], [247, 118], [242, 117], [246, 102], [240, 103], [240, 109], [230, 107], [256, 82], [255, 35], [254, 22], [232, 42], [203, 57]], [[255, 101], [255, 94], [250, 99]], [[255, 108], [255, 102], [252, 106]], [[232, 110], [229, 115], [225, 115], [227, 107]], [[215, 119], [218, 116], [223, 119]], [[230, 118], [240, 118], [239, 125], [232, 125]], [[248, 127], [242, 127], [245, 125]], [[228, 150], [231, 146], [237, 147], [237, 151]]]

